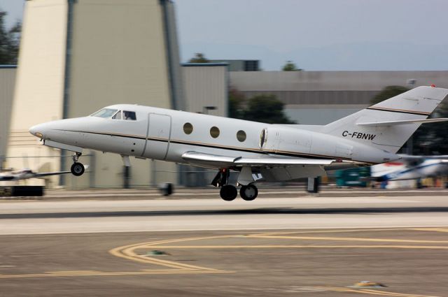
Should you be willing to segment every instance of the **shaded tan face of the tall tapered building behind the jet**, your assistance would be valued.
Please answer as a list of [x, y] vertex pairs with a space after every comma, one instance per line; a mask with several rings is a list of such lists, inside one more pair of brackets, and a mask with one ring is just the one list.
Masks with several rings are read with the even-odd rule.
[[[116, 103], [171, 108], [163, 21], [159, 0], [76, 1], [67, 117], [90, 115]], [[66, 178], [67, 187], [123, 184], [119, 155], [95, 152], [94, 156], [81, 157], [84, 164], [95, 166], [81, 178]], [[162, 162], [154, 171], [151, 161], [131, 161], [131, 186], [176, 180], [166, 173], [174, 171], [173, 164]], [[70, 165], [66, 159], [66, 168]]]

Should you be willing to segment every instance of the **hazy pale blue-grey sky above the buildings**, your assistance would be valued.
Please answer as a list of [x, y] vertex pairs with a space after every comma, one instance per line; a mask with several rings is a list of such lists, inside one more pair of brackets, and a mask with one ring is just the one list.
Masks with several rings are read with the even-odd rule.
[[[8, 24], [22, 0], [0, 0]], [[175, 0], [181, 61], [309, 71], [448, 70], [447, 0]]]

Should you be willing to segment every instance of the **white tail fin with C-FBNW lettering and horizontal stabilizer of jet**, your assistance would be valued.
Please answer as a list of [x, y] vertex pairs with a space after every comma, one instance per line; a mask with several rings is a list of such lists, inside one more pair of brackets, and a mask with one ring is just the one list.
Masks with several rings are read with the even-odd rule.
[[398, 152], [430, 113], [447, 97], [448, 89], [416, 87], [322, 127], [321, 132]]

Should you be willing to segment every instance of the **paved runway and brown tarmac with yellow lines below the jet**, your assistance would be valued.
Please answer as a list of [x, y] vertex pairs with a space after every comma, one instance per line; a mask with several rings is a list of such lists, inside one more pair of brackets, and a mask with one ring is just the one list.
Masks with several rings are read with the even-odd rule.
[[1, 201], [0, 296], [448, 296], [422, 193]]

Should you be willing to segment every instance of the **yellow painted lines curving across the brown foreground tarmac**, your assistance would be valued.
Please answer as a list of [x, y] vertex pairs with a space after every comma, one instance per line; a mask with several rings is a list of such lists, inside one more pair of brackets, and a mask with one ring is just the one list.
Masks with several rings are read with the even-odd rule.
[[[444, 244], [448, 241], [443, 240], [407, 240], [407, 239], [384, 239], [384, 238], [351, 238], [351, 237], [321, 237], [311, 236], [322, 233], [349, 233], [349, 232], [372, 232], [372, 231], [437, 231], [448, 232], [446, 227], [442, 228], [395, 228], [395, 229], [332, 229], [332, 230], [307, 230], [307, 231], [281, 231], [281, 232], [263, 232], [251, 234], [226, 234], [219, 236], [202, 236], [193, 238], [176, 238], [169, 240], [157, 240], [151, 242], [139, 242], [132, 245], [125, 245], [111, 249], [109, 253], [121, 259], [136, 261], [139, 263], [162, 266], [165, 269], [141, 269], [139, 271], [116, 271], [105, 272], [97, 270], [66, 270], [66, 271], [49, 271], [45, 273], [23, 274], [23, 275], [0, 275], [1, 278], [26, 278], [26, 277], [92, 277], [92, 276], [129, 276], [129, 275], [179, 275], [179, 274], [209, 274], [209, 273], [235, 273], [235, 271], [218, 270], [216, 268], [207, 268], [203, 266], [195, 266], [177, 261], [169, 261], [167, 259], [155, 258], [144, 254], [148, 249], [448, 249], [443, 245], [185, 245], [181, 242], [198, 242], [201, 240], [223, 240], [225, 238], [238, 238], [239, 240], [255, 239], [276, 239], [276, 240], [326, 240], [330, 241], [346, 241], [348, 242], [402, 242], [402, 243], [432, 243]], [[294, 234], [310, 234], [310, 236], [294, 236]], [[142, 251], [142, 252], [140, 252]], [[168, 258], [169, 259], [169, 258]], [[316, 287], [319, 288], [319, 287]], [[323, 287], [322, 287], [323, 288]], [[395, 296], [395, 297], [437, 297], [424, 296], [416, 294], [400, 294], [382, 289], [351, 289], [346, 287], [326, 287], [325, 290], [351, 292], [357, 294], [370, 294], [379, 296]]]

